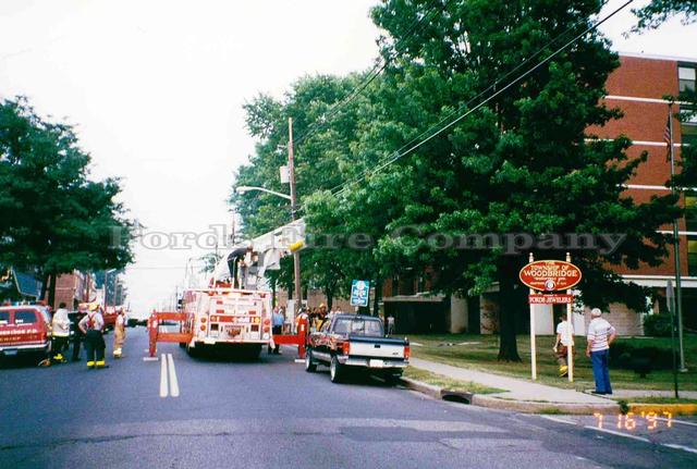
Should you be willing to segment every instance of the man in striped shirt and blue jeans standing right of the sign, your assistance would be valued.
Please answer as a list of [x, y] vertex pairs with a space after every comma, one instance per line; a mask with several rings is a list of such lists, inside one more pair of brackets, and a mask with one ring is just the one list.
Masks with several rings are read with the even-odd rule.
[[592, 318], [588, 324], [588, 346], [586, 347], [586, 357], [590, 357], [592, 363], [592, 377], [596, 380], [595, 394], [612, 394], [610, 385], [610, 370], [608, 368], [610, 360], [610, 345], [617, 335], [615, 329], [604, 319], [601, 318], [602, 311], [594, 308], [590, 311]]

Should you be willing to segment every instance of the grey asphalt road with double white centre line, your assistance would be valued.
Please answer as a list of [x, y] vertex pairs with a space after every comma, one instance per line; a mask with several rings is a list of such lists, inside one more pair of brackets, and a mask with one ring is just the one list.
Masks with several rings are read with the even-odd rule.
[[143, 360], [144, 329], [129, 334], [107, 370], [0, 368], [0, 468], [697, 467], [697, 454], [664, 445], [697, 441], [688, 424], [626, 437], [594, 430], [592, 417], [493, 411], [370, 379], [338, 385], [290, 349], [244, 362], [164, 344], [163, 367], [162, 355]]

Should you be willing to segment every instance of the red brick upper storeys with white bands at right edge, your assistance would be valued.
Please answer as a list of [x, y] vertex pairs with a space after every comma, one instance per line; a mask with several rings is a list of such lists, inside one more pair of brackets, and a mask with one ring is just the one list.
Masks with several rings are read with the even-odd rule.
[[[608, 79], [606, 100], [609, 106], [621, 109], [624, 116], [597, 129], [597, 135], [606, 138], [628, 136], [633, 140], [629, 157], [647, 152], [648, 159], [639, 166], [627, 195], [639, 202], [648, 201], [652, 196], [669, 192], [665, 183], [671, 176], [671, 163], [665, 136], [670, 111], [665, 97], [676, 97], [685, 88], [695, 89], [697, 60], [623, 54], [621, 63]], [[681, 106], [674, 104], [672, 111], [681, 112]], [[672, 127], [673, 156], [680, 162], [683, 146], [697, 144], [697, 120], [680, 122], [673, 116]], [[697, 186], [697, 181], [694, 186]], [[687, 215], [678, 221], [683, 319], [689, 329], [697, 329], [696, 201], [697, 192], [687, 190], [682, 194], [681, 205], [688, 210]], [[672, 233], [672, 226], [663, 226], [661, 231]], [[620, 269], [617, 272], [628, 281], [651, 287], [656, 294], [653, 311], [667, 311], [664, 292], [668, 281], [673, 280], [673, 284], [675, 283], [675, 257], [672, 248], [665, 261], [658, 267], [641, 266], [638, 270]], [[613, 308], [622, 310], [619, 305], [613, 305]], [[622, 314], [616, 317], [620, 316]], [[627, 332], [641, 332], [640, 322], [629, 323], [633, 325]]]

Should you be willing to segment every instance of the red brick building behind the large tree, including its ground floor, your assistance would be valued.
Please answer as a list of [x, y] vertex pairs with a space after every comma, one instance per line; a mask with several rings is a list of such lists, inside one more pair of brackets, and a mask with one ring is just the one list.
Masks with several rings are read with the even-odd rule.
[[[677, 96], [686, 87], [695, 87], [697, 60], [656, 58], [621, 54], [621, 66], [608, 79], [607, 103], [624, 113], [621, 120], [612, 121], [602, 128], [590, 128], [589, 133], [600, 138], [626, 135], [633, 140], [629, 157], [648, 153], [627, 194], [637, 201], [648, 201], [653, 195], [665, 195], [671, 168], [667, 161], [668, 144], [664, 140], [669, 109], [665, 96]], [[678, 111], [678, 107], [674, 107]], [[683, 145], [697, 144], [697, 120], [678, 122], [673, 119], [673, 146], [675, 161], [680, 161]], [[697, 182], [695, 182], [697, 186]], [[697, 196], [685, 193], [681, 199], [688, 215], [680, 221], [680, 261], [683, 280], [683, 317], [687, 329], [697, 329]], [[672, 226], [661, 231], [672, 233]], [[669, 279], [674, 279], [674, 257], [656, 267], [641, 266], [638, 270], [619, 269], [627, 281], [651, 287], [652, 312], [665, 312], [665, 288]], [[395, 314], [400, 332], [464, 332], [493, 333], [498, 331], [498, 293], [496, 288], [477, 298], [451, 298], [428, 296], [428, 281], [423, 276], [401, 277], [386, 282], [383, 291], [384, 312]], [[539, 334], [552, 334], [554, 316], [565, 310], [563, 306], [536, 305], [536, 330]], [[644, 332], [643, 317], [627, 310], [624, 305], [611, 305], [611, 321], [620, 334], [640, 335]], [[576, 330], [585, 332], [589, 321], [589, 308], [578, 308], [574, 314]], [[527, 323], [519, 329], [529, 328]]]

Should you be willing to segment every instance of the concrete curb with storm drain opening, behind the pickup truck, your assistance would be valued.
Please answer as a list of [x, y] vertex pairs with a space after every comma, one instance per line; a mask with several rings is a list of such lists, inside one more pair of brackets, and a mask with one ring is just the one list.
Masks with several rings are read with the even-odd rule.
[[501, 399], [484, 394], [470, 394], [444, 390], [439, 386], [402, 378], [402, 384], [409, 390], [435, 397], [437, 399], [458, 400], [478, 407], [487, 407], [499, 410], [514, 410], [525, 414], [570, 414], [570, 415], [592, 415], [592, 414], [619, 414], [620, 405], [608, 404], [571, 404], [571, 403], [536, 403], [529, 400]]

